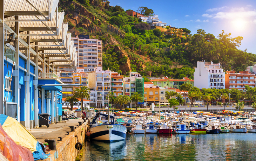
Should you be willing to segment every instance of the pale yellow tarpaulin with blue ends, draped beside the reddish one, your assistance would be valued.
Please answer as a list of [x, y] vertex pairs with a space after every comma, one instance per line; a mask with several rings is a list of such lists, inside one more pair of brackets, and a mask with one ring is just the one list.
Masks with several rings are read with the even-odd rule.
[[45, 159], [50, 154], [45, 154], [39, 142], [23, 127], [17, 120], [0, 114], [0, 124], [4, 131], [17, 144], [29, 149], [34, 156], [34, 160]]

